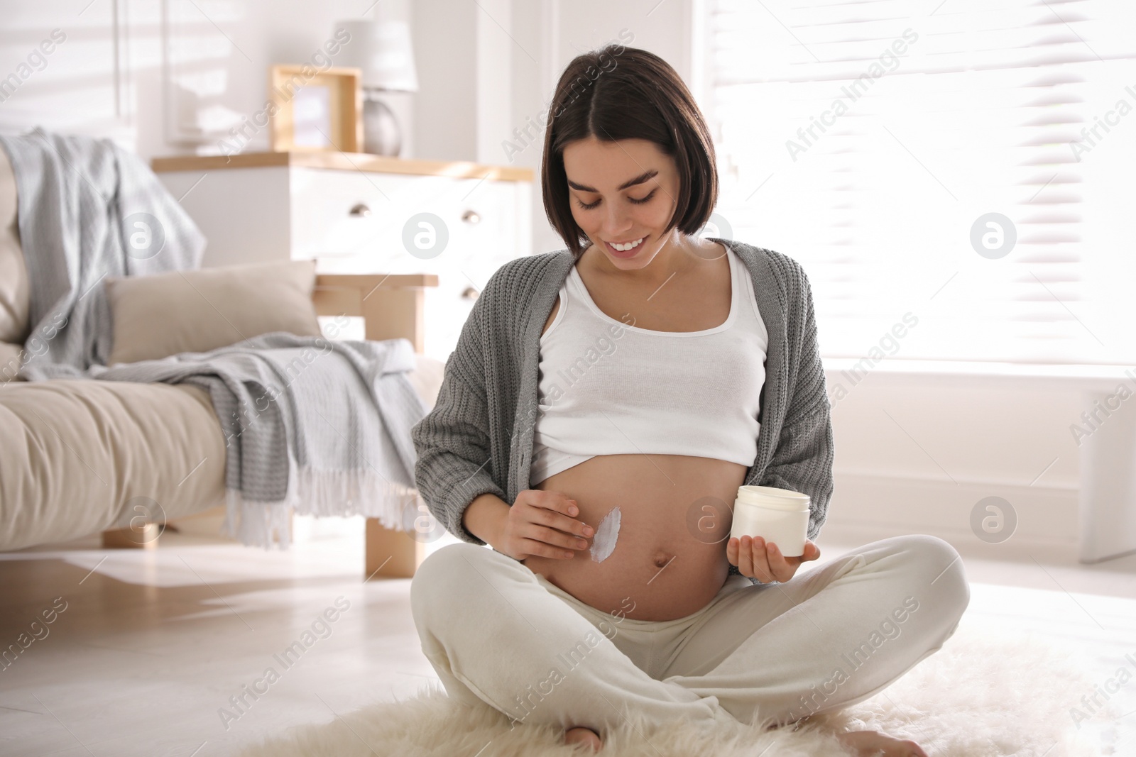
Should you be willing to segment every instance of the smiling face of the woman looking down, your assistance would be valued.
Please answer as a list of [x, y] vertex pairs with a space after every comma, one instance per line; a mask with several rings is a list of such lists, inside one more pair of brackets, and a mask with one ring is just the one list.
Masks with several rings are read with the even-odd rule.
[[654, 142], [590, 136], [569, 143], [563, 160], [573, 218], [615, 268], [643, 268], [677, 233], [663, 235], [677, 205], [678, 168]]

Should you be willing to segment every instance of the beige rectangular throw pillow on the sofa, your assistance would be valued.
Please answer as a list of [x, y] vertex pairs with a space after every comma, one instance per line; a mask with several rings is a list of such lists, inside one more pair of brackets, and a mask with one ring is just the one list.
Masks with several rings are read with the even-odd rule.
[[109, 364], [207, 352], [268, 331], [319, 336], [316, 261], [108, 277]]

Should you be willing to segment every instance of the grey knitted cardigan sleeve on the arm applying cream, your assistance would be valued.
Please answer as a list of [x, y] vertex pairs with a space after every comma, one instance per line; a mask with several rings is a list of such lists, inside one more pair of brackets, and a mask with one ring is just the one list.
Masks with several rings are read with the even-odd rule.
[[492, 280], [474, 302], [445, 362], [434, 409], [410, 430], [418, 459], [415, 485], [431, 514], [462, 541], [484, 545], [461, 523], [466, 507], [483, 494], [506, 498], [493, 480], [488, 403], [485, 393], [485, 311]]

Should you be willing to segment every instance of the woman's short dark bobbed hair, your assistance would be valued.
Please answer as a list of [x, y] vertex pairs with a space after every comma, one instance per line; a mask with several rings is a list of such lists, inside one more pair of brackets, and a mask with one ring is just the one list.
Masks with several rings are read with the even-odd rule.
[[608, 44], [577, 56], [557, 83], [544, 131], [541, 188], [549, 222], [575, 256], [588, 243], [568, 195], [563, 150], [594, 136], [603, 142], [648, 140], [675, 159], [679, 188], [666, 230], [694, 235], [718, 201], [718, 170], [710, 129], [690, 90], [659, 56]]

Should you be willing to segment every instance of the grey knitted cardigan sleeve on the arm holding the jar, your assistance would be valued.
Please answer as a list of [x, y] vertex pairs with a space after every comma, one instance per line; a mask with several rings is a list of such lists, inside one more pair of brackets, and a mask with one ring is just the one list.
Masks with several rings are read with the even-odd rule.
[[[761, 486], [792, 489], [809, 495], [809, 539], [816, 539], [833, 496], [833, 424], [820, 361], [812, 289], [799, 264], [796, 297], [786, 319], [792, 395], [787, 398], [777, 448], [761, 477]], [[792, 294], [792, 291], [791, 291]], [[794, 321], [799, 327], [794, 330]]]

